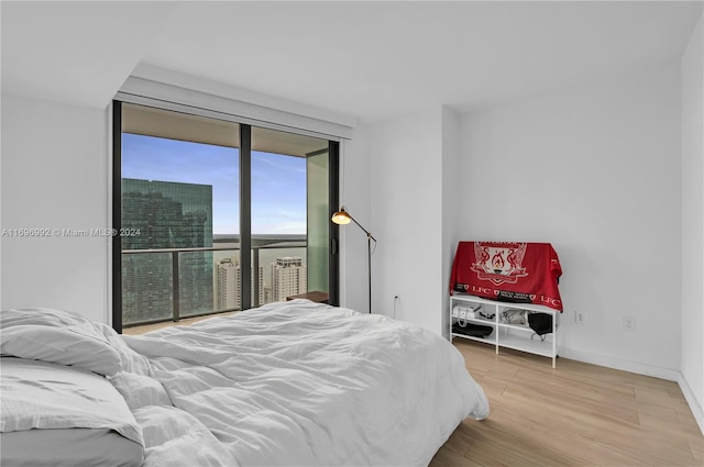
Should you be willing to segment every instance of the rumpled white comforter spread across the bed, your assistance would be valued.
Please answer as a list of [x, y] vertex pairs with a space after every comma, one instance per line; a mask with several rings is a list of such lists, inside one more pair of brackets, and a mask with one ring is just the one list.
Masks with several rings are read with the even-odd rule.
[[427, 465], [461, 420], [488, 414], [442, 337], [307, 300], [123, 340], [148, 359], [113, 379], [146, 466]]

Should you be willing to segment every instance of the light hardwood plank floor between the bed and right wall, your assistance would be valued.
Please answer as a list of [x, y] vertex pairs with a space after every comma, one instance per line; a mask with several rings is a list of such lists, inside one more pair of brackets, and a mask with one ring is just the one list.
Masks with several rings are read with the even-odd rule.
[[676, 382], [455, 338], [492, 412], [465, 420], [430, 467], [703, 466]]

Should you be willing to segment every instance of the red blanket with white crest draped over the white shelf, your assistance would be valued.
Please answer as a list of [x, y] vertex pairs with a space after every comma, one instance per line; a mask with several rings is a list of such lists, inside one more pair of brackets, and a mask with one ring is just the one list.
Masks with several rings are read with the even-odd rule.
[[460, 242], [450, 293], [535, 303], [562, 311], [558, 254], [549, 243]]

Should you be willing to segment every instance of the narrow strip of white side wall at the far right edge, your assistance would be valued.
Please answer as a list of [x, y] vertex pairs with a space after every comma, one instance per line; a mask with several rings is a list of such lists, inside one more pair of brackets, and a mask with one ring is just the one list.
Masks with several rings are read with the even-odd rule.
[[682, 56], [682, 376], [704, 432], [704, 31], [702, 18]]

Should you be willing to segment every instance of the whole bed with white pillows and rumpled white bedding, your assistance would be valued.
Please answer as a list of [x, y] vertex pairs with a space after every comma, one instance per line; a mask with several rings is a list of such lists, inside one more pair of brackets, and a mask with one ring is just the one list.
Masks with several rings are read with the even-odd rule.
[[428, 465], [490, 412], [444, 338], [302, 299], [141, 336], [4, 310], [0, 332], [3, 466]]

